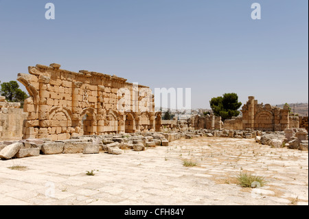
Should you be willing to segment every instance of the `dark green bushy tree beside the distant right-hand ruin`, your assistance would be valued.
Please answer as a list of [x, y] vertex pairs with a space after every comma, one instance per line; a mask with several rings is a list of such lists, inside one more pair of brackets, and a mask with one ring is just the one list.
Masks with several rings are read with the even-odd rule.
[[240, 114], [238, 108], [242, 106], [242, 103], [238, 102], [236, 93], [225, 93], [222, 97], [213, 97], [209, 103], [214, 115], [220, 116], [222, 121], [238, 116]]

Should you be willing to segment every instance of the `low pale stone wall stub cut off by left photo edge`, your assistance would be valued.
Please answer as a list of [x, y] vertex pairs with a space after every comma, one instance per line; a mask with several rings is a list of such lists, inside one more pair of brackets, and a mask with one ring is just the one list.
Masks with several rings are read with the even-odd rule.
[[15, 140], [23, 137], [23, 121], [27, 113], [23, 113], [20, 103], [6, 102], [0, 96], [0, 140]]

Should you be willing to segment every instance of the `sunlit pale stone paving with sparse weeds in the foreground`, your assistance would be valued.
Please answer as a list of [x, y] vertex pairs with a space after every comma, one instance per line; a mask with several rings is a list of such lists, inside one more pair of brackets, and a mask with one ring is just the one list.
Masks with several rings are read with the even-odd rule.
[[[267, 184], [240, 187], [240, 172]], [[308, 205], [308, 152], [201, 137], [121, 155], [0, 160], [0, 205]]]

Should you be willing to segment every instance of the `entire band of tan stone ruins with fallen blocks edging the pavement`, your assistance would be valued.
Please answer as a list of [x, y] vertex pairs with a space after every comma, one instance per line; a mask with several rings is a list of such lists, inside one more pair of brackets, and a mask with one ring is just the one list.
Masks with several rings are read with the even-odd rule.
[[288, 106], [258, 104], [250, 96], [242, 116], [224, 123], [213, 113], [162, 120], [149, 87], [93, 71], [63, 70], [58, 64], [36, 65], [28, 71], [17, 78], [30, 94], [23, 109], [0, 97], [1, 159], [122, 154], [123, 149], [168, 146], [182, 137], [255, 138], [275, 148], [308, 150], [308, 117], [290, 115]]

